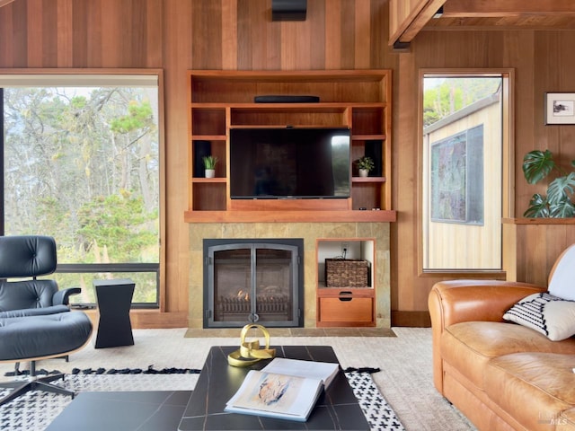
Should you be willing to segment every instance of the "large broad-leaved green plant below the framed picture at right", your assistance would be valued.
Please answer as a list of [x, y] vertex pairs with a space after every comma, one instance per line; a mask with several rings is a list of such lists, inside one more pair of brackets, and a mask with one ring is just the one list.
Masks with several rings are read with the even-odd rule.
[[[571, 161], [575, 168], [575, 160]], [[575, 172], [566, 172], [553, 160], [549, 150], [534, 150], [523, 158], [523, 173], [529, 184], [544, 180], [550, 173], [556, 173], [547, 186], [547, 194], [535, 193], [523, 216], [567, 218], [575, 216]]]

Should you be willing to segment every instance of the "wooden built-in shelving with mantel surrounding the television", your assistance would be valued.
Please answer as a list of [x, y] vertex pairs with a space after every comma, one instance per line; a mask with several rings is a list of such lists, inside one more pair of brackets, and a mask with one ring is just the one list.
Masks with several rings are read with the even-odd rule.
[[[184, 220], [208, 222], [394, 222], [391, 207], [391, 72], [189, 71], [189, 204]], [[264, 94], [320, 97], [316, 103], [255, 103]], [[347, 199], [230, 198], [229, 131], [243, 127], [348, 127], [351, 160], [376, 154], [376, 176], [351, 182]], [[199, 145], [219, 163], [203, 178]], [[355, 170], [354, 170], [355, 171]], [[366, 209], [366, 210], [360, 210]], [[376, 209], [379, 210], [376, 210]]]

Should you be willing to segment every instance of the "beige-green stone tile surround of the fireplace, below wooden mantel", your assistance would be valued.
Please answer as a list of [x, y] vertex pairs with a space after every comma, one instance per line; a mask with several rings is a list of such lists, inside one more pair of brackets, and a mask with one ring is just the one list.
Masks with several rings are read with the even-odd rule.
[[190, 329], [203, 327], [203, 240], [205, 238], [304, 240], [304, 327], [316, 328], [317, 240], [371, 239], [376, 245], [376, 327], [391, 327], [389, 223], [195, 223], [190, 224]]

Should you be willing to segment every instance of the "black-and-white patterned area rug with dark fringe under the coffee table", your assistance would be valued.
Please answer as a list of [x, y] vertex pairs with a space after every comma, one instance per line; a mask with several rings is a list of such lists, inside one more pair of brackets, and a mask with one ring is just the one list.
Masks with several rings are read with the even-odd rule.
[[[372, 431], [404, 427], [371, 378], [374, 369], [348, 368], [345, 375]], [[50, 374], [40, 370], [38, 374]], [[73, 370], [58, 385], [71, 391], [190, 391], [198, 381], [199, 370], [168, 368], [155, 370]], [[0, 397], [8, 391], [0, 390]], [[70, 397], [32, 391], [0, 407], [0, 430], [43, 431], [71, 402]], [[112, 431], [112, 430], [109, 430]]]

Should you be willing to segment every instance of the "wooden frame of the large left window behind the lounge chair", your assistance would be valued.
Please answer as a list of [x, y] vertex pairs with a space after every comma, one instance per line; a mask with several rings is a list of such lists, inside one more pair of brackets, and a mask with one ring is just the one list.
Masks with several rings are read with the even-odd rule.
[[[126, 79], [126, 85], [129, 84], [128, 77], [133, 77], [134, 82], [131, 84], [138, 84], [143, 82], [146, 76], [155, 76], [157, 79], [157, 92], [158, 92], [158, 163], [159, 163], [159, 262], [158, 263], [115, 263], [115, 264], [58, 264], [56, 273], [107, 273], [107, 272], [155, 272], [156, 274], [156, 303], [133, 303], [134, 308], [154, 308], [160, 312], [165, 312], [165, 133], [164, 133], [164, 70], [156, 68], [118, 68], [118, 69], [78, 69], [78, 68], [16, 68], [16, 69], [2, 69], [0, 68], [0, 100], [4, 101], [4, 86], [13, 83], [20, 85], [29, 81], [33, 86], [33, 77], [40, 79], [45, 77], [49, 84], [57, 86], [57, 76], [62, 75], [73, 79], [75, 76], [83, 83], [83, 85], [102, 85], [102, 79], [110, 76], [111, 82], [117, 84], [120, 78]], [[2, 77], [10, 80], [6, 83], [2, 81]], [[90, 84], [91, 79], [95, 79], [93, 84]], [[52, 83], [54, 82], [54, 83]], [[38, 83], [38, 81], [36, 81]], [[121, 84], [120, 84], [121, 85]], [[4, 119], [4, 103], [0, 103], [0, 119]], [[4, 121], [0, 121], [0, 133], [4, 136]], [[4, 140], [3, 140], [4, 142]], [[4, 201], [4, 145], [0, 145], [0, 194]], [[0, 235], [4, 235], [4, 205], [0, 210]]]

